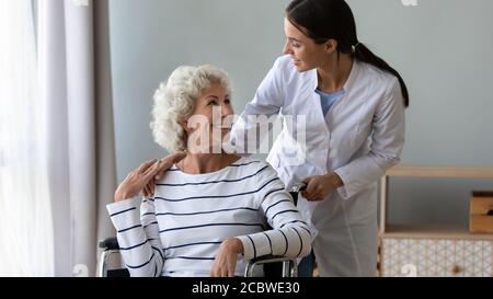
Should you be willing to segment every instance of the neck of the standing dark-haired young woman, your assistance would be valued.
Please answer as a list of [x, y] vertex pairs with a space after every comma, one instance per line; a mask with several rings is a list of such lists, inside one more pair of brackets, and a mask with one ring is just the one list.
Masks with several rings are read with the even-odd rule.
[[351, 55], [334, 54], [325, 64], [317, 68], [319, 89], [324, 92], [335, 92], [344, 88], [353, 69], [354, 59]]

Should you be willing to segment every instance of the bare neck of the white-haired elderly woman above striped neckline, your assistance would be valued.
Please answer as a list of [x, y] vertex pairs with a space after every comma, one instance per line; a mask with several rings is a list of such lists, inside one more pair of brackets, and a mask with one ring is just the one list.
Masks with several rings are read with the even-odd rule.
[[187, 153], [177, 166], [185, 173], [200, 174], [219, 171], [239, 159], [239, 156], [225, 152]]

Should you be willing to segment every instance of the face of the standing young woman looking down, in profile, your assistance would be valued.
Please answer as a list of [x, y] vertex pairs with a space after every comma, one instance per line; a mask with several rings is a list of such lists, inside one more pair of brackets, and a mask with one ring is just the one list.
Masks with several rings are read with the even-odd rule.
[[326, 59], [326, 45], [316, 44], [287, 19], [284, 19], [284, 32], [286, 44], [283, 51], [291, 56], [293, 64], [299, 72], [314, 69]]

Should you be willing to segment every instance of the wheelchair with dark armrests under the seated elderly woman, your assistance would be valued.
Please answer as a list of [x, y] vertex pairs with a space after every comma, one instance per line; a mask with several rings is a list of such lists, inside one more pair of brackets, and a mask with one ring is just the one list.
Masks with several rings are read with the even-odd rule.
[[[296, 184], [289, 192], [295, 203], [298, 202], [298, 193], [306, 188], [303, 183]], [[102, 249], [100, 257], [100, 266], [98, 271], [99, 277], [129, 277], [127, 268], [108, 268], [110, 258], [114, 254], [119, 254], [118, 241], [116, 238], [107, 238], [99, 242]], [[296, 258], [286, 256], [265, 255], [250, 260], [244, 271], [244, 277], [253, 277], [255, 268], [263, 266], [265, 277], [297, 277], [298, 263]]]

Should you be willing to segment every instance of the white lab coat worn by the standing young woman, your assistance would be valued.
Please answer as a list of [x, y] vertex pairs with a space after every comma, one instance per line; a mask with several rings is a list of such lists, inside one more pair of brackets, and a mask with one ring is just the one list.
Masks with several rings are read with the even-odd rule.
[[[279, 57], [231, 131], [237, 147], [254, 129], [248, 115], [305, 115], [306, 146], [296, 142], [300, 124], [285, 126], [267, 161], [286, 188], [307, 176], [335, 171], [344, 182], [329, 198], [298, 207], [317, 231], [313, 250], [321, 276], [375, 276], [377, 266], [377, 182], [400, 161], [404, 143], [404, 105], [398, 79], [356, 61], [345, 94], [324, 116], [317, 70], [298, 72], [289, 56]], [[298, 134], [298, 135], [297, 135]], [[296, 137], [295, 137], [296, 136]], [[241, 138], [240, 138], [241, 137]], [[301, 152], [293, 163], [288, 150]]]

